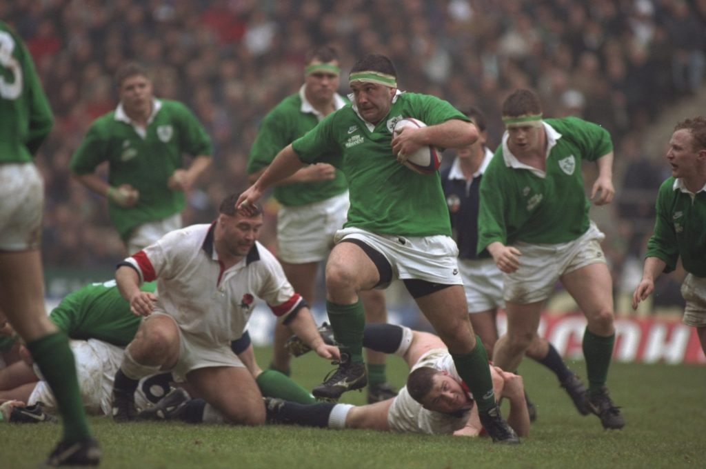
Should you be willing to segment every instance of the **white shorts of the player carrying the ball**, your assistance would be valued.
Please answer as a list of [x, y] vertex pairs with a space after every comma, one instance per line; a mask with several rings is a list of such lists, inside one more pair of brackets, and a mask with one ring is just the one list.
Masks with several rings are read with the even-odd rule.
[[458, 271], [458, 247], [450, 236], [376, 235], [351, 227], [336, 232], [336, 243], [345, 239], [360, 239], [385, 256], [394, 278], [416, 278], [441, 285], [463, 284]]

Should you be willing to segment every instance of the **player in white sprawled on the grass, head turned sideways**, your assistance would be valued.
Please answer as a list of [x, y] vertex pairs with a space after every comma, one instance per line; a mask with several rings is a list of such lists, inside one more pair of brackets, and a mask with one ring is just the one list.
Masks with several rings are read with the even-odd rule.
[[[268, 422], [469, 437], [483, 433], [477, 406], [440, 338], [392, 324], [369, 324], [363, 344], [404, 357], [412, 369], [407, 386], [395, 398], [362, 406], [328, 402], [301, 405], [265, 398]], [[495, 395], [510, 402], [508, 424], [517, 435], [526, 437], [530, 416], [522, 377], [493, 366], [490, 371]]]

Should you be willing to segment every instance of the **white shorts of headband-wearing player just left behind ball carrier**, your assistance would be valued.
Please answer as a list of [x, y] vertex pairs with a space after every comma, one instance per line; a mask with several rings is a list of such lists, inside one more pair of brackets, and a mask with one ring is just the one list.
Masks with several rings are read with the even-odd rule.
[[277, 212], [277, 257], [294, 264], [326, 259], [349, 206], [348, 191], [305, 206], [282, 206]]

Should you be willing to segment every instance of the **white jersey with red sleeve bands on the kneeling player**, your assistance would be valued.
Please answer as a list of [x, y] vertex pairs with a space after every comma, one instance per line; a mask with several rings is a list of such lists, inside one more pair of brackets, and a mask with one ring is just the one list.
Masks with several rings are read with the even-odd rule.
[[256, 242], [239, 263], [223, 270], [211, 225], [192, 225], [167, 233], [126, 263], [140, 280], [157, 280], [155, 310], [172, 316], [182, 331], [205, 343], [229, 344], [239, 338], [253, 312], [254, 297], [284, 319], [303, 299], [282, 266]]

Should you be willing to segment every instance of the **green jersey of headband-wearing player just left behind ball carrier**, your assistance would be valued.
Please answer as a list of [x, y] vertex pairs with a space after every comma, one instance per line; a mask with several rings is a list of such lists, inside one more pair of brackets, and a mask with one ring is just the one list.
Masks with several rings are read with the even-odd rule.
[[[258, 135], [250, 149], [247, 172], [252, 174], [270, 165], [277, 153], [297, 138], [310, 131], [319, 119], [313, 108], [305, 101], [304, 91], [285, 97], [263, 118]], [[347, 100], [336, 95], [337, 107]], [[303, 206], [342, 194], [347, 189], [343, 173], [336, 171], [330, 181], [298, 182], [275, 186], [273, 194], [283, 206]]]

